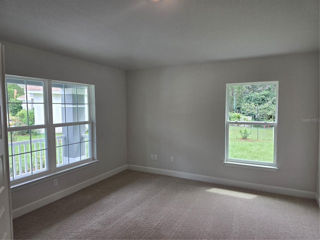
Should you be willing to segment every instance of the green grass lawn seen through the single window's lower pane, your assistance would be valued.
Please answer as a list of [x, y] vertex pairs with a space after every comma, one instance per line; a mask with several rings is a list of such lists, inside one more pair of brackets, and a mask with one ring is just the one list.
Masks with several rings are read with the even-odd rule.
[[[247, 139], [243, 139], [239, 132], [244, 128], [250, 132]], [[273, 162], [273, 128], [230, 125], [229, 158]]]

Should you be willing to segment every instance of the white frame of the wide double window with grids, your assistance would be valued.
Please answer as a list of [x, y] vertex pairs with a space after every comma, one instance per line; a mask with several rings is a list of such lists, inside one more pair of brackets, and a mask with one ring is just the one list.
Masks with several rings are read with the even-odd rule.
[[[21, 176], [16, 179], [10, 181], [11, 190], [21, 189], [23, 187], [27, 187], [29, 185], [37, 184], [38, 182], [56, 178], [59, 175], [67, 174], [69, 172], [81, 169], [83, 167], [90, 166], [97, 162], [96, 158], [96, 150], [95, 150], [95, 106], [94, 106], [94, 85], [92, 84], [84, 84], [79, 82], [68, 82], [68, 81], [58, 81], [58, 80], [49, 80], [43, 78], [34, 78], [34, 77], [26, 77], [26, 76], [16, 76], [5, 74], [5, 82], [6, 78], [15, 78], [15, 79], [25, 79], [25, 80], [33, 80], [33, 81], [41, 81], [43, 82], [43, 102], [44, 102], [44, 124], [38, 125], [30, 125], [30, 126], [19, 126], [19, 127], [8, 127], [8, 132], [17, 131], [23, 129], [36, 129], [36, 128], [45, 128], [46, 129], [46, 137], [47, 137], [47, 170], [43, 170], [41, 172], [37, 172], [34, 174]], [[51, 84], [52, 83], [62, 83], [62, 84], [70, 84], [70, 85], [83, 85], [87, 88], [87, 99], [88, 99], [88, 119], [86, 121], [74, 121], [67, 123], [53, 123], [52, 117], [52, 91]], [[5, 85], [6, 87], [6, 85]], [[7, 96], [6, 96], [7, 97]], [[6, 102], [8, 99], [6, 99]], [[7, 103], [6, 103], [7, 104]], [[6, 116], [7, 117], [7, 116]], [[7, 119], [8, 120], [8, 119]], [[82, 125], [88, 124], [90, 127], [90, 157], [79, 160], [73, 163], [68, 163], [63, 166], [56, 165], [56, 151], [55, 151], [55, 127], [62, 126], [70, 126], [70, 125]]]

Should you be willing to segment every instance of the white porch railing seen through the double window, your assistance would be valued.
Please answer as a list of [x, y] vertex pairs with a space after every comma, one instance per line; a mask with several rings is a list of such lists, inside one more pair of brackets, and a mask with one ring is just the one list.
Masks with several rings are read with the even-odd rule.
[[[90, 145], [87, 142], [88, 135], [82, 134], [85, 144], [84, 155], [90, 156]], [[64, 145], [64, 135], [55, 136], [56, 166], [65, 165], [65, 157], [57, 148]], [[11, 147], [12, 144], [12, 147]], [[32, 175], [48, 169], [47, 143], [45, 138], [9, 142], [10, 155], [10, 180]], [[12, 158], [11, 158], [12, 157]]]

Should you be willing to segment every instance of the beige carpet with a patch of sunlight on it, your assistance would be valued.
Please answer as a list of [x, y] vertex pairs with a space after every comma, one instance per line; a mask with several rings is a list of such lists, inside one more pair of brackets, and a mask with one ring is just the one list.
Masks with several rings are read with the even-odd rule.
[[15, 239], [319, 239], [315, 200], [125, 170], [13, 220]]

